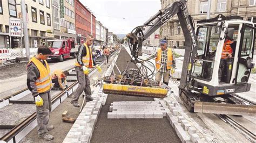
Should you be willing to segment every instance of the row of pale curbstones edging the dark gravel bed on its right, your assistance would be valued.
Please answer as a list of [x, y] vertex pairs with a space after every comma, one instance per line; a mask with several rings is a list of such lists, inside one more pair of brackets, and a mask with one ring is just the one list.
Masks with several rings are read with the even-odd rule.
[[204, 138], [199, 137], [197, 129], [193, 126], [193, 123], [186, 120], [182, 116], [182, 109], [180, 109], [178, 102], [170, 101], [167, 99], [154, 99], [163, 106], [164, 110], [166, 111], [166, 117], [170, 121], [171, 126], [176, 131], [181, 142], [205, 142]]

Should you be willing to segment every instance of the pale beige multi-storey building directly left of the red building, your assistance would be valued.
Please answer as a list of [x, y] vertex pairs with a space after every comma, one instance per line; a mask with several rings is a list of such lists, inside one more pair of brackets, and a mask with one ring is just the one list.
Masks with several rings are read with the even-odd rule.
[[60, 32], [55, 33], [58, 39], [71, 38], [76, 41], [75, 0], [60, 1]]

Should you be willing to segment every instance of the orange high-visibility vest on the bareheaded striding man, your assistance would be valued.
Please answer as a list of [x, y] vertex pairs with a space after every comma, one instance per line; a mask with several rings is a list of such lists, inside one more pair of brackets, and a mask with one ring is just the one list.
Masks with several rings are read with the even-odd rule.
[[[83, 56], [83, 63], [86, 66], [86, 68], [92, 68], [92, 51], [91, 48], [88, 48], [87, 45], [84, 43], [84, 46], [86, 48], [86, 56]], [[83, 50], [83, 49], [80, 49]], [[75, 66], [81, 67], [81, 65], [79, 65], [77, 59], [76, 59], [76, 63]]]

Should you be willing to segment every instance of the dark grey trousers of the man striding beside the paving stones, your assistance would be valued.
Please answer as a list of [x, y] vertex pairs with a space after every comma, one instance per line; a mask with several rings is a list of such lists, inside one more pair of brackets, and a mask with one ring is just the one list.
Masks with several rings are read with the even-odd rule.
[[91, 97], [91, 87], [90, 87], [90, 79], [88, 75], [84, 74], [84, 71], [81, 67], [75, 68], [77, 73], [77, 81], [78, 81], [78, 88], [74, 92], [74, 96], [72, 101], [77, 102], [80, 95], [85, 92], [86, 97]]

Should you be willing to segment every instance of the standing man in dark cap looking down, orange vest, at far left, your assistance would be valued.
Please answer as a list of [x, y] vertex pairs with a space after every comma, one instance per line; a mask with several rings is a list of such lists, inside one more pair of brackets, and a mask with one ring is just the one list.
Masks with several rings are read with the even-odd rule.
[[53, 125], [49, 125], [51, 112], [51, 76], [50, 68], [46, 59], [51, 50], [46, 46], [39, 46], [37, 55], [33, 56], [28, 63], [28, 77], [26, 84], [32, 92], [36, 103], [37, 125], [39, 138], [52, 140], [53, 135], [48, 134]]

